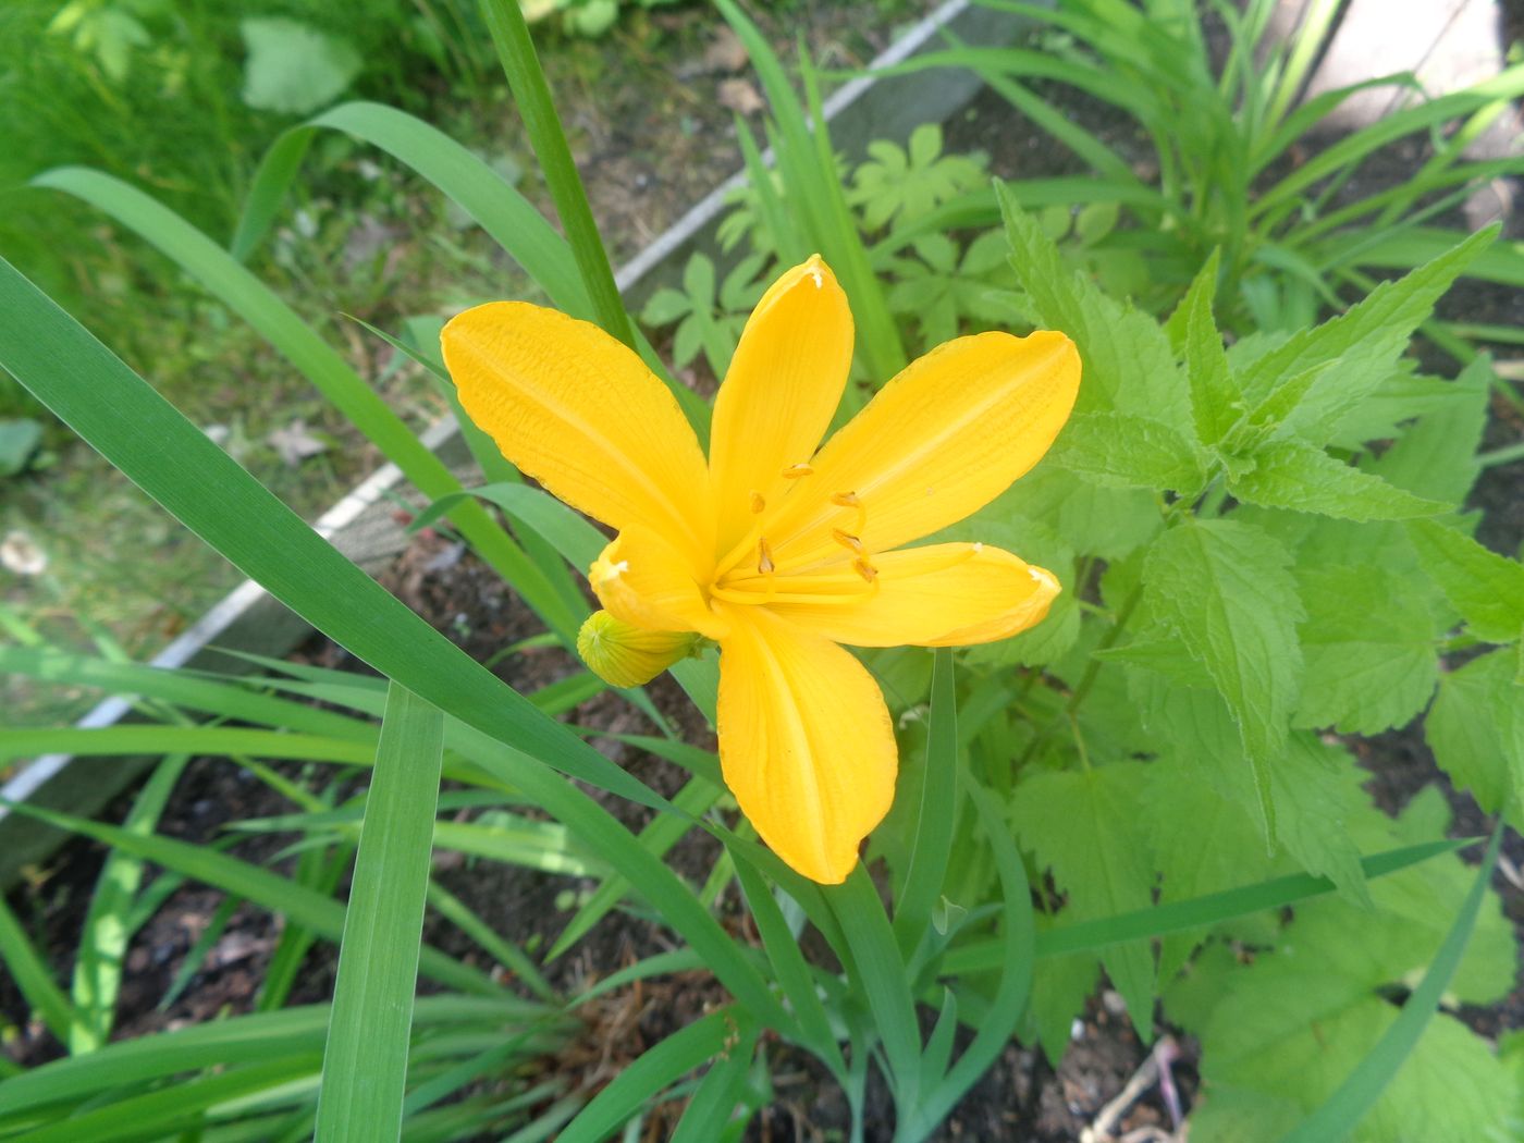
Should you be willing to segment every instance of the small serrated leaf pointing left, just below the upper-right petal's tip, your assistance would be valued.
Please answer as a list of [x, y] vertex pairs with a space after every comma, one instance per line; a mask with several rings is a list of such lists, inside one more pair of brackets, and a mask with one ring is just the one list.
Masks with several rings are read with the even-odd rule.
[[1169, 489], [1193, 498], [1202, 485], [1190, 443], [1135, 413], [1076, 413], [1050, 456], [1052, 463], [1102, 488]]

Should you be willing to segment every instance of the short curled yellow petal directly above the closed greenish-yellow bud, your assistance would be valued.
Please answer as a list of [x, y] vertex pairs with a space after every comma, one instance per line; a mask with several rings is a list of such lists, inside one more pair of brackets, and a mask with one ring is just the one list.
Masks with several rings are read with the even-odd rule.
[[597, 600], [614, 616], [648, 631], [698, 631], [722, 637], [730, 625], [709, 610], [687, 561], [664, 536], [626, 527], [588, 568]]

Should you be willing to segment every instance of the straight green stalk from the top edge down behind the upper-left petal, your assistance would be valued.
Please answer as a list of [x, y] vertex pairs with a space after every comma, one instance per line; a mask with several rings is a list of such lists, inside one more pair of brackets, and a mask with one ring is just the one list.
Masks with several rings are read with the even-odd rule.
[[561, 218], [567, 241], [572, 244], [572, 255], [576, 258], [582, 285], [587, 287], [587, 294], [593, 300], [597, 323], [626, 346], [634, 347], [636, 331], [629, 325], [625, 303], [619, 299], [619, 287], [614, 285], [608, 251], [604, 248], [604, 239], [599, 238], [593, 210], [587, 204], [587, 192], [582, 189], [576, 163], [572, 162], [572, 148], [567, 146], [565, 133], [561, 130], [561, 117], [550, 98], [550, 84], [546, 82], [544, 69], [539, 67], [539, 56], [535, 55], [535, 43], [529, 37], [524, 12], [517, 0], [482, 0], [482, 18], [492, 32], [497, 56], [507, 76], [507, 87], [524, 117], [524, 128], [529, 131], [529, 142], [535, 148], [539, 169], [544, 171], [546, 181], [550, 184], [550, 198], [556, 204], [556, 215]]

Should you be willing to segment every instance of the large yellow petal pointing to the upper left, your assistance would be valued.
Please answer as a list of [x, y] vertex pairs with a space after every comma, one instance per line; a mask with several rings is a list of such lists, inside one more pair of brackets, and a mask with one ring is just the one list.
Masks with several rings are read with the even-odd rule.
[[590, 322], [491, 302], [440, 334], [460, 404], [526, 474], [596, 520], [672, 536], [701, 572], [713, 559], [703, 450], [677, 399]]

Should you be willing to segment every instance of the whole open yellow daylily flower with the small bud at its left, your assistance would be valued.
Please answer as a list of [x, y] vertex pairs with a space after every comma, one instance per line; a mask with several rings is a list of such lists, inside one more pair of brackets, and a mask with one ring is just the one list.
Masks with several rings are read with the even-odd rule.
[[629, 684], [692, 636], [715, 640], [725, 783], [792, 869], [843, 881], [888, 812], [898, 756], [878, 684], [838, 643], [986, 643], [1047, 614], [1058, 579], [1009, 552], [904, 544], [1042, 457], [1079, 389], [1074, 344], [948, 341], [820, 447], [853, 328], [815, 256], [747, 322], [706, 460], [666, 386], [594, 325], [494, 302], [442, 341], [462, 405], [503, 454], [617, 530], [588, 573], [605, 611], [584, 655]]

